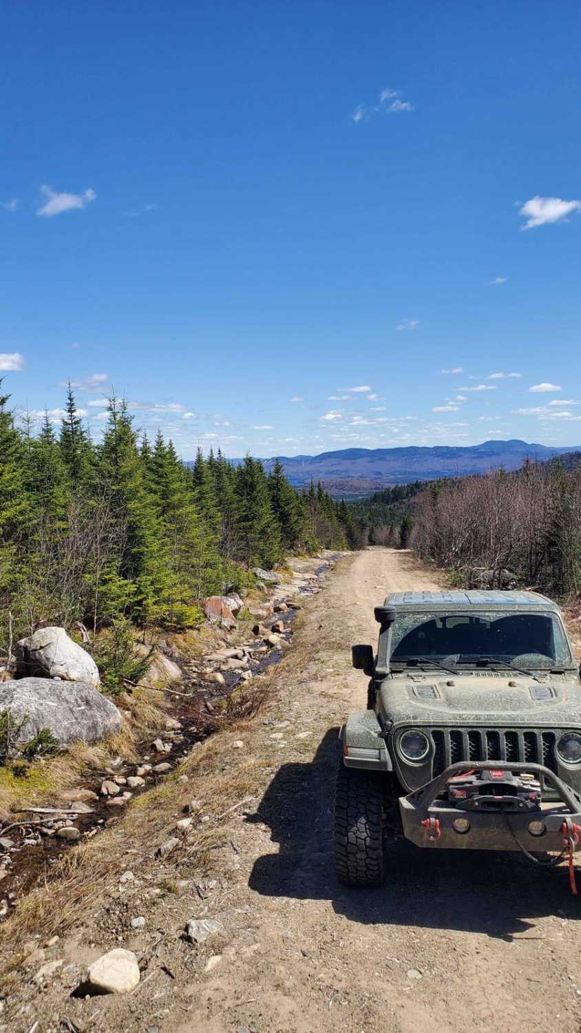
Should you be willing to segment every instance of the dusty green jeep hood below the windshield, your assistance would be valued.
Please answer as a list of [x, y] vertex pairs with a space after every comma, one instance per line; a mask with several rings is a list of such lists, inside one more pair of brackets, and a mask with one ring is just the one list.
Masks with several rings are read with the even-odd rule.
[[382, 718], [392, 726], [581, 726], [581, 685], [566, 675], [395, 675], [380, 689]]

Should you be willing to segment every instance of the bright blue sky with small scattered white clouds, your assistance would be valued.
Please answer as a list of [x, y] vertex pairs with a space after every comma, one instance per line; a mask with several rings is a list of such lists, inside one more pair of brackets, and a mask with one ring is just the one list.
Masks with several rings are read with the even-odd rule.
[[70, 378], [98, 436], [115, 388], [184, 459], [581, 444], [580, 32], [577, 0], [5, 5], [12, 404], [58, 419]]

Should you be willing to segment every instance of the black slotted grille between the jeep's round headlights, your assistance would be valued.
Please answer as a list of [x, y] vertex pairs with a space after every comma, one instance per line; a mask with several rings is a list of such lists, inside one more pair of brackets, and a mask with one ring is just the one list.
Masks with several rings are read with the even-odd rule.
[[514, 760], [556, 772], [555, 733], [512, 729], [435, 728], [432, 778], [459, 760]]

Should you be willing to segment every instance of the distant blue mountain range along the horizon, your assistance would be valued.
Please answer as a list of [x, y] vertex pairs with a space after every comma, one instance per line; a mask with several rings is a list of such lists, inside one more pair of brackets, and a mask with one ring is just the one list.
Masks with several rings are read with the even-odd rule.
[[[342, 448], [319, 456], [280, 456], [279, 459], [291, 484], [302, 487], [311, 480], [321, 480], [330, 494], [349, 498], [413, 480], [465, 476], [498, 467], [516, 470], [526, 459], [546, 462], [577, 451], [581, 451], [581, 445], [551, 448], [515, 439], [432, 448], [414, 445], [407, 448]], [[262, 462], [268, 471], [275, 459]], [[568, 463], [574, 462], [568, 458]]]

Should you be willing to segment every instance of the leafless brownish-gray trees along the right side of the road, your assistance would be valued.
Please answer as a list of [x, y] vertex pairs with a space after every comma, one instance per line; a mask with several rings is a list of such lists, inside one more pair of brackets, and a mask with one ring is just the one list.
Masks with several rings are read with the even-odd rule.
[[420, 557], [465, 584], [485, 568], [560, 595], [581, 592], [581, 466], [526, 462], [512, 473], [433, 481], [414, 501], [412, 542]]

